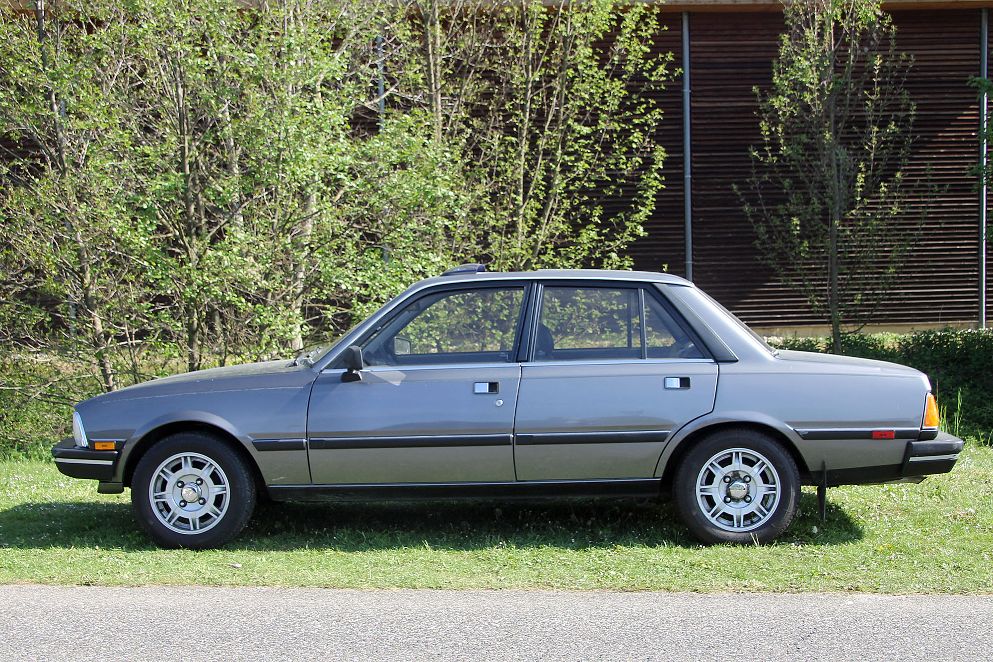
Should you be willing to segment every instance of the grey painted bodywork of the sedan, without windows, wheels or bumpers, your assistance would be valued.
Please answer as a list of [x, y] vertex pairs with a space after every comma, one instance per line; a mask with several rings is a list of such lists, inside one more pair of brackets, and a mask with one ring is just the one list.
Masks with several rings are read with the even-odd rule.
[[[361, 371], [341, 382], [327, 370], [410, 296], [438, 285], [541, 278], [591, 283], [654, 283], [692, 307], [698, 330], [716, 334], [735, 360], [487, 364]], [[719, 376], [718, 376], [719, 375]], [[666, 390], [665, 377], [689, 377], [688, 390]], [[498, 382], [499, 394], [474, 393]], [[519, 397], [518, 397], [519, 386]], [[313, 387], [313, 396], [312, 396]], [[123, 467], [163, 425], [210, 424], [255, 461], [267, 484], [486, 482], [661, 476], [681, 444], [717, 424], [753, 423], [792, 444], [801, 470], [872, 468], [899, 463], [906, 439], [803, 439], [797, 430], [921, 429], [930, 390], [920, 372], [896, 364], [775, 352], [682, 278], [637, 271], [540, 270], [430, 278], [412, 285], [313, 366], [275, 361], [155, 380], [80, 403], [92, 438], [126, 439]], [[497, 407], [497, 401], [502, 406]], [[308, 429], [308, 406], [310, 422]], [[515, 419], [516, 415], [516, 419]], [[667, 440], [624, 433], [671, 430]], [[478, 437], [561, 432], [617, 432], [605, 441], [515, 445]], [[331, 439], [308, 450], [257, 450], [252, 441]], [[336, 439], [342, 441], [336, 447]], [[352, 441], [350, 441], [350, 439]], [[394, 439], [399, 447], [386, 447]], [[368, 440], [363, 447], [362, 441]], [[423, 443], [421, 443], [423, 441]], [[462, 445], [464, 443], [464, 445]], [[261, 444], [267, 447], [266, 444]], [[272, 444], [268, 446], [275, 447]], [[809, 477], [808, 477], [809, 478]]]

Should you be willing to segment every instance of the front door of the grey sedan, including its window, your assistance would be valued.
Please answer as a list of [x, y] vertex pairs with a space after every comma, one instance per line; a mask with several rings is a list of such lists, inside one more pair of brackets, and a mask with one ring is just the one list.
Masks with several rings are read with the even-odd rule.
[[316, 484], [512, 481], [523, 285], [428, 292], [326, 370], [308, 414]]

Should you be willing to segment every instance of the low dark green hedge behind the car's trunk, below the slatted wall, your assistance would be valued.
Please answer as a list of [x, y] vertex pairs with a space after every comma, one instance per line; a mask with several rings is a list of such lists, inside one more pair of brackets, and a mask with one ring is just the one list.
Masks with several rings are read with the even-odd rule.
[[[828, 338], [771, 338], [782, 349], [826, 352]], [[891, 361], [927, 375], [947, 424], [957, 414], [959, 431], [993, 439], [993, 331], [944, 329], [897, 334], [846, 334], [844, 354]]]

